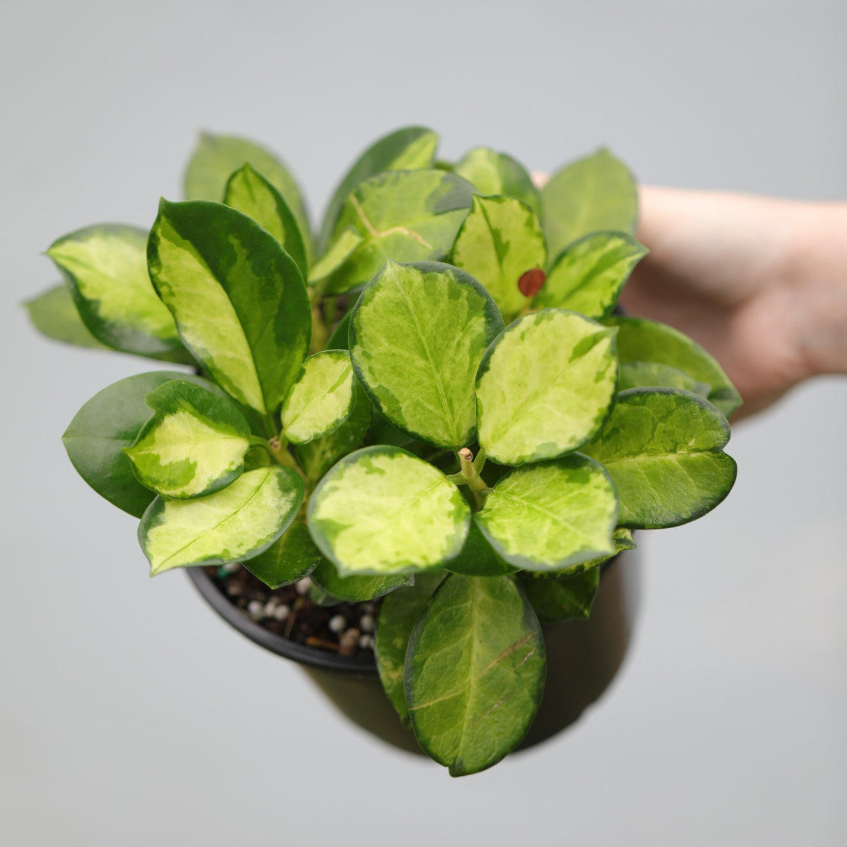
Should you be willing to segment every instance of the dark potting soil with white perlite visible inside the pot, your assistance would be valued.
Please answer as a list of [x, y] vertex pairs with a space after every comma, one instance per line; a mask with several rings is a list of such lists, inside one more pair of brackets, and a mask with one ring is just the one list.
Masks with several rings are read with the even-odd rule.
[[379, 600], [318, 606], [308, 594], [311, 580], [269, 589], [241, 565], [203, 570], [220, 592], [247, 617], [298, 644], [341, 656], [373, 656]]

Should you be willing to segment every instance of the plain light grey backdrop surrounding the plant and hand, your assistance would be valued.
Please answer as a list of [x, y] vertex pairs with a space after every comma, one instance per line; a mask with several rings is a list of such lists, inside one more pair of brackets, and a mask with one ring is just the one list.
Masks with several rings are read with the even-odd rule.
[[739, 425], [739, 481], [642, 535], [634, 648], [575, 728], [451, 780], [231, 634], [59, 441], [151, 366], [36, 337], [39, 255], [150, 224], [200, 128], [265, 141], [320, 208], [374, 136], [424, 123], [552, 169], [847, 195], [844, 3], [0, 0], [3, 844], [843, 844], [844, 379]]

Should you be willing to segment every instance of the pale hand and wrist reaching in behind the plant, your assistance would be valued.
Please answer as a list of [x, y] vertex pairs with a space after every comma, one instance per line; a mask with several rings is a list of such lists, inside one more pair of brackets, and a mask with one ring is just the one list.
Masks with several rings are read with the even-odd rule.
[[847, 203], [645, 185], [639, 204], [650, 253], [621, 304], [717, 358], [745, 401], [735, 419], [847, 374]]

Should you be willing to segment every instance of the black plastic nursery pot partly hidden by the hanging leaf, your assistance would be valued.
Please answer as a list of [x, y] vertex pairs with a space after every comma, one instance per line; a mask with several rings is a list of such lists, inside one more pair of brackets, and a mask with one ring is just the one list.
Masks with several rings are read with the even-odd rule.
[[[215, 612], [257, 645], [298, 662], [352, 722], [391, 745], [420, 753], [379, 683], [373, 657], [338, 656], [269, 632], [234, 606], [202, 567], [187, 572]], [[621, 667], [638, 610], [638, 551], [602, 566], [600, 590], [587, 621], [545, 627], [547, 681], [538, 713], [518, 749], [562, 732], [606, 690]]]

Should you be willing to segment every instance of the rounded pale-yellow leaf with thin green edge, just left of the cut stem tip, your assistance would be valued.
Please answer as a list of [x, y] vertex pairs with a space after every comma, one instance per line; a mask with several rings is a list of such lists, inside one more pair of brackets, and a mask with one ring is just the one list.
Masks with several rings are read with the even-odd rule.
[[470, 509], [438, 468], [396, 447], [363, 447], [320, 481], [309, 531], [342, 576], [408, 573], [457, 556]]

